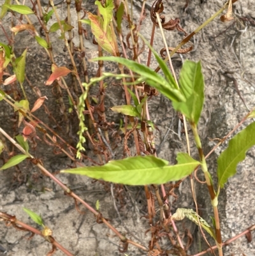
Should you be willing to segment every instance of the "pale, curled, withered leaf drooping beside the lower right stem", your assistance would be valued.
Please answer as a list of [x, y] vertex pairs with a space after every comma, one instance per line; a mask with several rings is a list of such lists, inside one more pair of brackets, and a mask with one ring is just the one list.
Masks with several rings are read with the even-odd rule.
[[196, 225], [201, 225], [201, 227], [215, 239], [214, 229], [212, 229], [212, 227], [203, 218], [198, 216], [193, 209], [178, 208], [176, 213], [171, 216], [171, 219], [183, 220], [185, 217], [191, 220], [191, 222], [196, 223]]

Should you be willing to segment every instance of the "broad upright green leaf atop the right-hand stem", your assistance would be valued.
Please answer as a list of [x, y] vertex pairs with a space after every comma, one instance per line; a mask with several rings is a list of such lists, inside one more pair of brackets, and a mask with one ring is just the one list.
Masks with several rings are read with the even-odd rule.
[[197, 124], [203, 109], [205, 98], [203, 89], [203, 74], [201, 63], [185, 61], [180, 70], [180, 91], [185, 96], [185, 102], [173, 103], [175, 110], [179, 110], [190, 122]]

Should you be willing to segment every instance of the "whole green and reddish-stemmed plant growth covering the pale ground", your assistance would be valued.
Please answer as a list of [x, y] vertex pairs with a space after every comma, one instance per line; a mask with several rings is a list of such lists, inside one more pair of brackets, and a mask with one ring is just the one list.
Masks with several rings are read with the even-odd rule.
[[[67, 195], [73, 197], [77, 209], [78, 201], [96, 216], [96, 221], [98, 223], [105, 223], [105, 225], [112, 229], [112, 231], [120, 238], [120, 241], [122, 242], [124, 247], [123, 252], [127, 250], [129, 244], [132, 244], [145, 252], [149, 252], [150, 255], [159, 255], [159, 253], [187, 255], [187, 248], [185, 248], [184, 243], [179, 236], [177, 227], [175, 226], [175, 220], [183, 220], [186, 217], [200, 227], [202, 234], [203, 230], [210, 234], [210, 236], [215, 240], [215, 245], [219, 251], [219, 255], [223, 255], [222, 246], [224, 243], [222, 242], [221, 238], [221, 227], [218, 211], [219, 194], [221, 188], [224, 187], [224, 184], [226, 184], [228, 179], [235, 174], [237, 164], [244, 160], [247, 150], [254, 146], [255, 139], [253, 131], [255, 124], [251, 123], [247, 125], [246, 128], [244, 128], [241, 132], [237, 133], [237, 135], [230, 140], [228, 148], [220, 154], [219, 158], [217, 159], [218, 183], [214, 184], [211, 176], [212, 170], [210, 170], [210, 172], [208, 170], [206, 161], [207, 156], [205, 156], [203, 153], [200, 134], [198, 132], [198, 123], [200, 121], [203, 103], [205, 100], [205, 85], [201, 62], [199, 61], [196, 63], [194, 61], [186, 60], [180, 70], [179, 79], [177, 79], [177, 75], [175, 75], [175, 70], [173, 69], [173, 65], [171, 63], [171, 56], [173, 56], [175, 52], [189, 52], [193, 47], [189, 47], [187, 49], [179, 48], [188, 42], [191, 43], [189, 41], [191, 37], [198, 33], [226, 8], [228, 8], [228, 13], [226, 16], [224, 15], [224, 17], [222, 17], [222, 20], [231, 20], [231, 4], [235, 2], [235, 0], [230, 0], [228, 3], [224, 4], [221, 10], [217, 11], [215, 15], [212, 15], [210, 19], [204, 22], [204, 24], [198, 27], [198, 29], [196, 29], [193, 33], [188, 35], [186, 31], [180, 27], [178, 19], [170, 20], [166, 23], [163, 22], [163, 18], [159, 16], [164, 9], [163, 3], [161, 0], [155, 1], [150, 10], [150, 18], [153, 24], [152, 31], [154, 31], [155, 27], [160, 28], [165, 46], [163, 50], [161, 50], [161, 53], [166, 52], [165, 55], [161, 54], [161, 56], [159, 56], [156, 50], [154, 50], [152, 47], [154, 32], [152, 32], [150, 43], [143, 38], [140, 32], [140, 23], [136, 26], [133, 22], [132, 13], [129, 10], [129, 4], [126, 0], [122, 1], [122, 3], [119, 3], [118, 1], [115, 3], [112, 0], [96, 1], [95, 4], [98, 6], [98, 15], [87, 11], [88, 19], [81, 19], [80, 17], [82, 1], [75, 2], [78, 20], [78, 38], [80, 40], [80, 47], [78, 47], [78, 49], [75, 47], [72, 41], [72, 32], [74, 26], [71, 25], [71, 14], [69, 10], [71, 1], [66, 2], [68, 5], [67, 19], [61, 20], [57, 12], [57, 8], [54, 6], [54, 2], [52, 0], [50, 0], [51, 7], [48, 6], [48, 9], [43, 10], [43, 8], [38, 6], [38, 13], [36, 8], [33, 8], [32, 10], [28, 6], [21, 5], [18, 1], [16, 2], [17, 4], [11, 4], [9, 0], [6, 0], [1, 8], [1, 20], [4, 19], [6, 13], [10, 12], [11, 15], [13, 15], [13, 17], [18, 19], [20, 22], [20, 24], [11, 28], [11, 32], [13, 33], [12, 36], [14, 37], [17, 33], [22, 31], [28, 31], [29, 35], [33, 36], [34, 40], [47, 53], [52, 64], [52, 73], [45, 81], [45, 86], [52, 86], [52, 84], [54, 84], [57, 92], [60, 95], [58, 99], [59, 108], [61, 110], [60, 112], [62, 112], [62, 119], [67, 124], [66, 136], [67, 134], [71, 133], [71, 125], [68, 125], [71, 123], [71, 115], [74, 114], [77, 118], [78, 143], [76, 148], [71, 146], [71, 144], [68, 142], [68, 136], [63, 138], [61, 135], [59, 135], [59, 133], [55, 132], [47, 124], [43, 123], [39, 117], [32, 114], [43, 106], [45, 108], [45, 112], [50, 118], [52, 118], [55, 125], [58, 125], [57, 121], [55, 121], [54, 117], [52, 117], [53, 115], [50, 114], [50, 111], [47, 109], [47, 105], [45, 105], [47, 96], [41, 96], [41, 93], [38, 93], [33, 86], [31, 87], [37, 95], [37, 100], [34, 102], [33, 108], [30, 110], [29, 105], [32, 105], [31, 100], [27, 96], [28, 93], [24, 88], [24, 83], [29, 83], [29, 79], [25, 77], [27, 49], [25, 49], [19, 57], [16, 57], [13, 42], [10, 40], [10, 38], [8, 38], [8, 36], [6, 36], [8, 43], [0, 43], [0, 81], [4, 86], [13, 86], [13, 84], [16, 86], [16, 83], [18, 82], [18, 86], [22, 91], [22, 96], [18, 97], [19, 91], [15, 86], [13, 86], [13, 91], [11, 91], [11, 93], [8, 90], [1, 89], [0, 101], [4, 101], [13, 107], [14, 113], [17, 116], [17, 128], [21, 125], [23, 125], [24, 128], [22, 130], [22, 135], [10, 136], [0, 127], [1, 134], [10, 140], [10, 142], [22, 152], [22, 154], [17, 154], [15, 156], [13, 156], [15, 153], [9, 153], [8, 155], [10, 156], [10, 159], [5, 159], [6, 163], [3, 164], [0, 170], [5, 170], [14, 166], [18, 168], [18, 165], [24, 160], [26, 161], [26, 164], [33, 163], [41, 170], [41, 172], [43, 172], [43, 174], [46, 174], [55, 183], [59, 184]], [[145, 1], [143, 1], [143, 8], [144, 6]], [[17, 13], [24, 15], [28, 24], [25, 24], [25, 22], [22, 23], [22, 19], [17, 17]], [[33, 26], [27, 15], [36, 15], [36, 17], [38, 17], [40, 20], [41, 29], [45, 32], [45, 39], [36, 31], [36, 28]], [[129, 26], [129, 33], [127, 35], [128, 48], [133, 52], [133, 59], [128, 58], [128, 54], [124, 47], [122, 20], [124, 20], [125, 15]], [[140, 22], [142, 22], [142, 16], [143, 11], [141, 12]], [[51, 17], [55, 17], [56, 22], [54, 22], [52, 26], [49, 26], [48, 22], [50, 21]], [[98, 72], [90, 79], [87, 72], [87, 64], [89, 63], [86, 63], [84, 57], [84, 29], [82, 28], [82, 24], [87, 24], [91, 27], [92, 34], [98, 43], [98, 57], [91, 59], [89, 62], [91, 63], [98, 61]], [[168, 31], [177, 29], [178, 31], [185, 33], [185, 38], [175, 49], [172, 49], [166, 43], [163, 29]], [[59, 40], [64, 41], [64, 45], [69, 54], [71, 68], [67, 68], [66, 66], [57, 66], [55, 64], [50, 35], [59, 32]], [[119, 40], [117, 40], [117, 37]], [[129, 40], [132, 41], [132, 47]], [[139, 55], [142, 49], [140, 49], [141, 47], [139, 44], [141, 45], [141, 42], [144, 47], [147, 45], [149, 48], [147, 65], [140, 63]], [[119, 49], [119, 43], [122, 48], [121, 50]], [[80, 65], [83, 68], [83, 72], [79, 72], [77, 68], [75, 50], [77, 50], [78, 54], [80, 54]], [[107, 52], [107, 54], [110, 56], [103, 57], [103, 54], [105, 54], [103, 51]], [[120, 57], [121, 51], [122, 56], [124, 57]], [[150, 68], [151, 53], [154, 55], [157, 64], [159, 65], [156, 70], [152, 70]], [[163, 60], [163, 58], [165, 59]], [[119, 73], [103, 72], [103, 63], [106, 61], [117, 63]], [[170, 61], [169, 66], [166, 64], [167, 61]], [[3, 73], [3, 70], [9, 70], [9, 73]], [[163, 76], [159, 75], [159, 70], [162, 70]], [[13, 75], [10, 75], [10, 73], [13, 73]], [[8, 75], [8, 78], [4, 81], [3, 75]], [[71, 85], [69, 85], [67, 82], [66, 78], [68, 76], [71, 76]], [[125, 104], [110, 107], [113, 112], [120, 113], [124, 116], [124, 121], [122, 121], [122, 119], [120, 121], [120, 127], [118, 129], [115, 128], [115, 134], [119, 135], [119, 137], [120, 132], [124, 133], [124, 153], [122, 154], [123, 159], [117, 160], [114, 159], [115, 153], [113, 152], [113, 144], [109, 136], [111, 124], [107, 120], [105, 113], [107, 80], [105, 83], [104, 80], [109, 78], [120, 80], [120, 83], [124, 88], [126, 100]], [[97, 85], [99, 85], [98, 95], [91, 95], [90, 89]], [[68, 96], [68, 110], [66, 109], [66, 105], [62, 97], [63, 91], [66, 92], [66, 95]], [[181, 113], [186, 138], [188, 138], [186, 123], [187, 119], [193, 133], [194, 144], [198, 149], [198, 160], [196, 160], [196, 152], [190, 152], [188, 139], [187, 153], [182, 152], [177, 154], [177, 164], [169, 165], [167, 160], [158, 158], [156, 156], [155, 142], [152, 135], [152, 130], [155, 130], [155, 127], [154, 123], [152, 123], [149, 118], [148, 102], [150, 98], [155, 96], [158, 92], [163, 94], [169, 101], [171, 101], [175, 111]], [[96, 103], [96, 105], [93, 105], [94, 103]], [[98, 117], [96, 116], [96, 113], [98, 113]], [[254, 110], [251, 110], [244, 117], [242, 122], [240, 122], [240, 124], [242, 124], [246, 119], [253, 117]], [[238, 126], [240, 126], [240, 124], [238, 124]], [[231, 133], [237, 130], [238, 126], [236, 126]], [[57, 177], [48, 172], [48, 170], [43, 167], [40, 159], [34, 158], [33, 154], [29, 153], [29, 144], [32, 144], [33, 149], [36, 149], [36, 140], [41, 140], [39, 135], [36, 134], [38, 131], [43, 134], [43, 141], [45, 144], [50, 147], [54, 147], [54, 150], [57, 149], [66, 154], [66, 156], [73, 161], [73, 164], [75, 165], [74, 168], [61, 170], [62, 173], [80, 174], [91, 177], [92, 179], [99, 179], [117, 184], [144, 186], [148, 203], [147, 218], [149, 219], [149, 224], [151, 227], [154, 228], [150, 230], [152, 238], [150, 240], [149, 248], [143, 245], [143, 243], [136, 243], [129, 240], [126, 236], [115, 229], [115, 227], [113, 227], [113, 225], [111, 225], [100, 212], [101, 207], [99, 207], [99, 200], [96, 202], [96, 209], [89, 206], [89, 204], [81, 199], [81, 197], [78, 197], [76, 193], [72, 192], [68, 186], [61, 183]], [[142, 133], [143, 138], [140, 135], [140, 132]], [[219, 144], [224, 142], [231, 133], [224, 137]], [[131, 153], [128, 146], [128, 138], [131, 136], [131, 134], [133, 134], [135, 142], [135, 154]], [[17, 141], [13, 140], [13, 137], [15, 137]], [[86, 140], [89, 140], [96, 160], [94, 158], [89, 158], [89, 156], [85, 154]], [[0, 152], [2, 153], [4, 149], [6, 150], [6, 148], [8, 148], [7, 143], [0, 140]], [[194, 158], [191, 155], [193, 155]], [[80, 161], [84, 159], [88, 160], [93, 166], [88, 165], [84, 167], [83, 163]], [[208, 192], [210, 194], [212, 208], [214, 210], [212, 226], [201, 218], [200, 215], [198, 215], [193, 181], [193, 171], [198, 168], [201, 168], [203, 171]], [[179, 181], [177, 184], [180, 184], [184, 179], [186, 179], [186, 177], [190, 177], [191, 179], [191, 190], [193, 192], [194, 202], [196, 204], [196, 211], [193, 211], [193, 209], [179, 208], [177, 209], [176, 213], [171, 215], [170, 207], [168, 207], [169, 202], [163, 184], [168, 183], [169, 181]], [[150, 184], [152, 184], [151, 188]], [[159, 193], [158, 185], [161, 186], [163, 197]], [[111, 186], [111, 188], [113, 188], [113, 185]], [[154, 222], [156, 213], [154, 199], [152, 198], [152, 191], [155, 193], [161, 214], [160, 222], [156, 223]], [[43, 230], [34, 229], [33, 227], [18, 221], [15, 216], [11, 216], [6, 213], [0, 212], [0, 219], [4, 220], [6, 223], [11, 223], [13, 227], [17, 227], [18, 225], [18, 227], [21, 226], [25, 231], [30, 230], [33, 232], [33, 234], [43, 236], [49, 243], [52, 244], [51, 253], [54, 253], [55, 246], [61, 249], [62, 247], [56, 243], [52, 237], [52, 231], [44, 226], [41, 217], [28, 209], [24, 208], [24, 210], [29, 214], [29, 216], [31, 216], [34, 222], [43, 227]], [[252, 229], [253, 228], [247, 229], [247, 232], [250, 232]], [[173, 250], [171, 250], [171, 252], [166, 252], [159, 246], [158, 230], [163, 230], [163, 232], [166, 232], [166, 234], [171, 234], [171, 232], [175, 234], [175, 239], [173, 239], [173, 237], [170, 235], [168, 237], [171, 245], [173, 246]], [[205, 234], [203, 234], [203, 237], [207, 241]], [[62, 251], [66, 253], [66, 255], [73, 255], [66, 249]]]

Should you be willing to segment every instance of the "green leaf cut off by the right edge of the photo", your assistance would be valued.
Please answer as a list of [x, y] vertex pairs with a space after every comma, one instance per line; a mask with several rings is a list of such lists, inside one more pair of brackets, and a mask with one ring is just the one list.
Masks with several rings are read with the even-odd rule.
[[224, 187], [228, 178], [237, 172], [237, 164], [244, 160], [245, 153], [255, 145], [255, 123], [249, 124], [230, 140], [228, 148], [217, 159], [218, 186]]

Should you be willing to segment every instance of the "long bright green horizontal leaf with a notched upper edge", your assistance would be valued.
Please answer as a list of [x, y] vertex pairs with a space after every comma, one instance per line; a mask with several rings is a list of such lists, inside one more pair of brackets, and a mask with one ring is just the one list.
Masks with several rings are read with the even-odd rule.
[[102, 166], [79, 167], [61, 170], [61, 172], [85, 175], [93, 179], [103, 179], [120, 184], [163, 184], [182, 179], [191, 174], [200, 164], [186, 153], [177, 154], [177, 162], [177, 165], [168, 165], [168, 161], [155, 156], [134, 156], [113, 160]]

